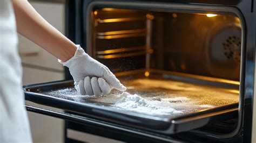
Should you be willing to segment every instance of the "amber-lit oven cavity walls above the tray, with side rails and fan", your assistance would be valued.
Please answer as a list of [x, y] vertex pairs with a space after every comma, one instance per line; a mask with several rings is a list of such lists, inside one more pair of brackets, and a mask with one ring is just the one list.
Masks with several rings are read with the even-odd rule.
[[91, 54], [115, 73], [157, 69], [239, 81], [238, 17], [103, 8], [92, 22]]

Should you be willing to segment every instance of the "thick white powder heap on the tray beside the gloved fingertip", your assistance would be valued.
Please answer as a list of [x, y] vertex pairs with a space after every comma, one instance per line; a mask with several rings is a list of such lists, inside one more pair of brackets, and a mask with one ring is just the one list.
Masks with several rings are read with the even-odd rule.
[[169, 107], [150, 104], [146, 99], [136, 94], [131, 95], [128, 92], [123, 92], [119, 97], [119, 100], [113, 106], [120, 109], [146, 113], [148, 115], [172, 115], [183, 113]]

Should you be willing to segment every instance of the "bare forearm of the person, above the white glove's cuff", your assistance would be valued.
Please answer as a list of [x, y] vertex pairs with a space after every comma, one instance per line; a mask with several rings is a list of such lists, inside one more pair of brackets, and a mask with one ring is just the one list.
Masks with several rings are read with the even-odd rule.
[[67, 61], [76, 51], [76, 45], [51, 26], [26, 0], [12, 0], [17, 31], [35, 42], [56, 58]]

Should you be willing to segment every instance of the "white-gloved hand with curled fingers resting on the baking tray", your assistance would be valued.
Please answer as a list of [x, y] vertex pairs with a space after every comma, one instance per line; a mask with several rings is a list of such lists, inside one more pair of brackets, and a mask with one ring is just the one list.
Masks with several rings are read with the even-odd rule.
[[75, 81], [75, 88], [81, 95], [107, 95], [113, 88], [126, 90], [109, 68], [91, 58], [80, 45], [77, 45], [76, 53], [70, 60], [58, 61], [69, 68]]

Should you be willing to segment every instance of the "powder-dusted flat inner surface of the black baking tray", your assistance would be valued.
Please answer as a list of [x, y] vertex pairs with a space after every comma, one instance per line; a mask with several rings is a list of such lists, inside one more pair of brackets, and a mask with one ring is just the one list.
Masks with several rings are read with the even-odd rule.
[[72, 86], [41, 94], [122, 112], [173, 118], [239, 102], [239, 90], [230, 92], [177, 81], [137, 79], [126, 82], [126, 87], [127, 92], [113, 90], [102, 97], [79, 95]]

